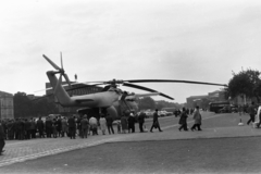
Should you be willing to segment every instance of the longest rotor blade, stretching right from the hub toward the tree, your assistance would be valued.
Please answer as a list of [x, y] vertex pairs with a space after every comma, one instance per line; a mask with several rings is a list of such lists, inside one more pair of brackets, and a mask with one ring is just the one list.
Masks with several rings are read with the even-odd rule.
[[227, 86], [226, 84], [213, 84], [213, 83], [178, 80], [178, 79], [129, 79], [129, 80], [123, 80], [123, 82], [127, 82], [127, 83], [185, 83], [185, 84]]

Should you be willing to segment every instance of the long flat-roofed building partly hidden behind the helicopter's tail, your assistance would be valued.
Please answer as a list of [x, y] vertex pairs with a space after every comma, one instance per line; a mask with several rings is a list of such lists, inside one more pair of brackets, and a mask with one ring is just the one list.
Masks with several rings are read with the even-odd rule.
[[[72, 82], [72, 84], [74, 82]], [[67, 85], [67, 83], [63, 82], [62, 85]], [[51, 88], [50, 83], [46, 83], [46, 89], [49, 89], [49, 88]], [[88, 86], [85, 84], [73, 85], [73, 88], [76, 88], [76, 89], [67, 91], [69, 96], [82, 96], [82, 95], [99, 92], [102, 90], [102, 87]], [[70, 87], [64, 86], [64, 89], [67, 90], [70, 89]], [[53, 94], [53, 89], [46, 90], [46, 95], [51, 95], [51, 94]], [[53, 100], [53, 102], [55, 102], [60, 114], [67, 115], [71, 113], [76, 113], [76, 111], [80, 109], [78, 107], [62, 107], [54, 95], [50, 96], [49, 98]]]

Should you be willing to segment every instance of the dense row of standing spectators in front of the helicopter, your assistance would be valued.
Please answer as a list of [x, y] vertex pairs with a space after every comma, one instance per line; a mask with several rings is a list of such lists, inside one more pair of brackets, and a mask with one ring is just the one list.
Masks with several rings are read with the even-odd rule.
[[26, 140], [34, 138], [58, 138], [76, 136], [87, 138], [88, 135], [114, 134], [113, 124], [116, 124], [117, 133], [135, 133], [135, 123], [139, 123], [140, 132], [144, 130], [145, 114], [140, 114], [138, 120], [133, 113], [125, 113], [121, 120], [114, 121], [112, 116], [101, 114], [99, 119], [95, 116], [72, 115], [72, 116], [47, 116], [32, 119], [7, 119], [2, 120], [1, 127], [4, 140]]

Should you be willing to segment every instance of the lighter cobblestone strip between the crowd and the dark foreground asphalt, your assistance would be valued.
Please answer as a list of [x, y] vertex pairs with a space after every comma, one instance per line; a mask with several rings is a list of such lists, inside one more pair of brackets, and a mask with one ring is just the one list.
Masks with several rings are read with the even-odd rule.
[[[224, 116], [223, 114], [203, 115], [204, 122]], [[231, 116], [229, 120], [235, 121]], [[171, 123], [170, 119], [164, 119], [167, 123], [162, 124], [163, 133], [154, 130], [153, 133], [137, 133], [137, 134], [114, 134], [88, 136], [87, 139], [77, 137], [76, 139], [63, 138], [38, 138], [30, 140], [8, 140], [5, 152], [0, 156], [0, 166], [10, 165], [16, 162], [33, 160], [40, 157], [57, 154], [75, 149], [87, 148], [105, 142], [115, 141], [140, 141], [140, 140], [165, 140], [165, 139], [188, 139], [188, 138], [219, 138], [219, 137], [235, 137], [235, 136], [260, 136], [260, 129], [251, 126], [227, 126], [227, 127], [207, 127], [202, 132], [178, 132], [177, 124]], [[245, 119], [246, 120], [246, 119]], [[163, 121], [163, 120], [162, 120]], [[191, 120], [188, 123], [191, 124]], [[148, 125], [151, 123], [148, 123]]]

